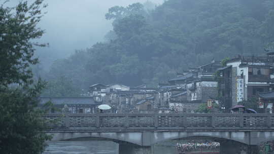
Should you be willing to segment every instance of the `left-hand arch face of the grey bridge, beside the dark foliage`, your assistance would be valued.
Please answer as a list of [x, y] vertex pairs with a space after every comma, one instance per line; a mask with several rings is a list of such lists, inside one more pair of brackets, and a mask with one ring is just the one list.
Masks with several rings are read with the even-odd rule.
[[142, 145], [142, 132], [50, 132], [51, 141], [63, 141], [80, 138], [100, 138], [102, 140], [122, 141]]

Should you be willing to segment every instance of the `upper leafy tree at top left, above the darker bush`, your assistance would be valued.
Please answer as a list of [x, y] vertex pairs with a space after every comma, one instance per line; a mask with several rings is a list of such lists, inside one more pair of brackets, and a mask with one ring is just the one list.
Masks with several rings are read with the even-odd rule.
[[0, 7], [0, 83], [3, 86], [31, 82], [29, 66], [38, 63], [38, 59], [33, 58], [33, 45], [45, 46], [32, 42], [44, 33], [37, 27], [43, 16], [40, 9], [42, 2], [36, 0], [28, 5], [25, 1], [16, 8]]

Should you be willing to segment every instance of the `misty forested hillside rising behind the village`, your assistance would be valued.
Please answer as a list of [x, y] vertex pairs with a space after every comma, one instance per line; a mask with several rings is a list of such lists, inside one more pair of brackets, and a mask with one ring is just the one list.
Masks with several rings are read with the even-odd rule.
[[[263, 54], [274, 42], [272, 0], [169, 0], [154, 10], [113, 7], [107, 42], [54, 62], [44, 95], [78, 95], [94, 83], [156, 86], [188, 66]], [[62, 82], [58, 82], [62, 81]]]

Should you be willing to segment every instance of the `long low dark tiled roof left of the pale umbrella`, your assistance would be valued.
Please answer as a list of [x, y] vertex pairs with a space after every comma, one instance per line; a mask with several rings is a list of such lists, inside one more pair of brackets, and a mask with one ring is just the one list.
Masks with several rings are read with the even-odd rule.
[[93, 97], [39, 97], [40, 103], [45, 104], [51, 101], [54, 105], [72, 105], [72, 104], [82, 104], [82, 105], [97, 105]]

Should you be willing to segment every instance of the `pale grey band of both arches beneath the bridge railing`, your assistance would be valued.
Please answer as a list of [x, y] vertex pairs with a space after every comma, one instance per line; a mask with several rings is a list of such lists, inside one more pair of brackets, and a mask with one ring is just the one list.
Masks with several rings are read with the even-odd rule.
[[151, 146], [158, 142], [192, 137], [226, 139], [248, 145], [259, 145], [274, 140], [274, 131], [119, 131], [119, 132], [48, 132], [53, 134], [52, 141], [76, 138], [102, 138], [112, 141], [128, 142], [140, 146]]

